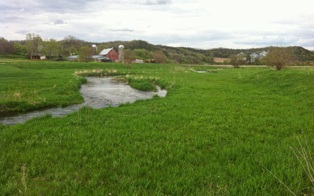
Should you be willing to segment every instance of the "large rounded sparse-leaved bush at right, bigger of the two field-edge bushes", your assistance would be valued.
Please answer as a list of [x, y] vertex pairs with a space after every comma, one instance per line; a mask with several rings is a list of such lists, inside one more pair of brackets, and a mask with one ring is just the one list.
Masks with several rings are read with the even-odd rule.
[[293, 64], [294, 59], [290, 48], [272, 46], [269, 49], [268, 54], [263, 57], [263, 63], [275, 67], [277, 70], [281, 70], [284, 67]]

